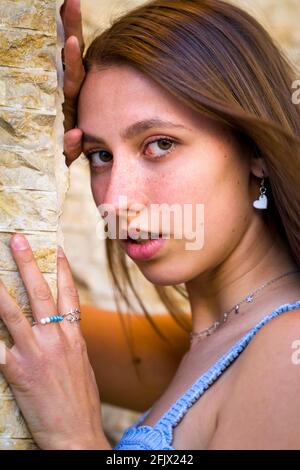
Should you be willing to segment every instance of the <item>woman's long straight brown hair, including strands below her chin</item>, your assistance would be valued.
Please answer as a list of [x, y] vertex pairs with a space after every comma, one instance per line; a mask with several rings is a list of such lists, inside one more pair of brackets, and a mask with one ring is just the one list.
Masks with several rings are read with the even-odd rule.
[[[263, 157], [271, 198], [268, 218], [300, 266], [300, 112], [292, 103], [296, 70], [254, 18], [219, 0], [150, 1], [98, 35], [84, 64], [86, 72], [135, 67], [192, 110], [227, 125]], [[106, 250], [117, 296], [132, 308], [131, 289], [156, 328], [123, 250], [109, 239]], [[174, 320], [190, 331], [168, 287], [154, 288]], [[183, 286], [173, 289], [187, 298]]]

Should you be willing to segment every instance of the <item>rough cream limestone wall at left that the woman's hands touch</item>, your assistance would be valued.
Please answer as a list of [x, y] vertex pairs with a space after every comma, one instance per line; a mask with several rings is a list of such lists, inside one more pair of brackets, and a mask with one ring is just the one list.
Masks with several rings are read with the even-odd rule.
[[[59, 214], [67, 188], [62, 155], [62, 28], [56, 0], [0, 3], [0, 276], [24, 315], [31, 312], [12, 259], [11, 234], [26, 234], [56, 296]], [[0, 321], [0, 340], [12, 344]], [[0, 374], [0, 449], [34, 448]]]

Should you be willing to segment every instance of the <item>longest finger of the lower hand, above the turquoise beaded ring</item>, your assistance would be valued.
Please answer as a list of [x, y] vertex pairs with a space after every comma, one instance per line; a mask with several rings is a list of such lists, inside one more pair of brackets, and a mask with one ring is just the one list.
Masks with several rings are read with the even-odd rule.
[[34, 318], [40, 320], [43, 317], [57, 315], [50, 288], [36, 264], [26, 237], [20, 234], [14, 235], [10, 240], [10, 247], [26, 288]]

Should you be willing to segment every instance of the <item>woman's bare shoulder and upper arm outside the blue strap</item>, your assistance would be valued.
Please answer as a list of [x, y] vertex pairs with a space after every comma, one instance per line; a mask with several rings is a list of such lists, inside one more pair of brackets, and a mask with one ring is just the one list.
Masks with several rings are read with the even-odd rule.
[[299, 449], [300, 308], [264, 325], [234, 366], [211, 449]]

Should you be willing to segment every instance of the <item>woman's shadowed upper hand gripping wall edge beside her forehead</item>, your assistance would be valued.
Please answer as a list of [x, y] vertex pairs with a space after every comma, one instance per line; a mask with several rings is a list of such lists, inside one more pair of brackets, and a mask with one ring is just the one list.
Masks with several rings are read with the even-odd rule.
[[68, 166], [82, 153], [82, 131], [76, 128], [78, 95], [85, 78], [82, 63], [84, 41], [82, 34], [82, 18], [80, 0], [65, 0], [61, 7], [61, 18], [65, 31], [65, 46], [63, 49], [64, 96], [63, 112], [64, 154]]

